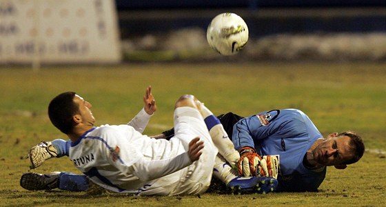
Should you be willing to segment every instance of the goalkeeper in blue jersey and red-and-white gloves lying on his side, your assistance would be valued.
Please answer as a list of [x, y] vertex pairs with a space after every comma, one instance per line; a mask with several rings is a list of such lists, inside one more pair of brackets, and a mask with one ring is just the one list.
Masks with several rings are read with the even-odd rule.
[[241, 119], [233, 126], [232, 141], [241, 154], [238, 166], [244, 175], [258, 172], [261, 157], [280, 156], [276, 191], [316, 191], [325, 179], [326, 166], [344, 169], [365, 150], [362, 139], [352, 131], [323, 138], [309, 117], [296, 109]]

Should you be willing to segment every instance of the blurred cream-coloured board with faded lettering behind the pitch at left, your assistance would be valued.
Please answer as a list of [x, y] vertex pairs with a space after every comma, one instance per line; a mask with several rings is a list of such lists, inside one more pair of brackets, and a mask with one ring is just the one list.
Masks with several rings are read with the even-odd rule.
[[117, 63], [113, 0], [0, 0], [0, 63]]

